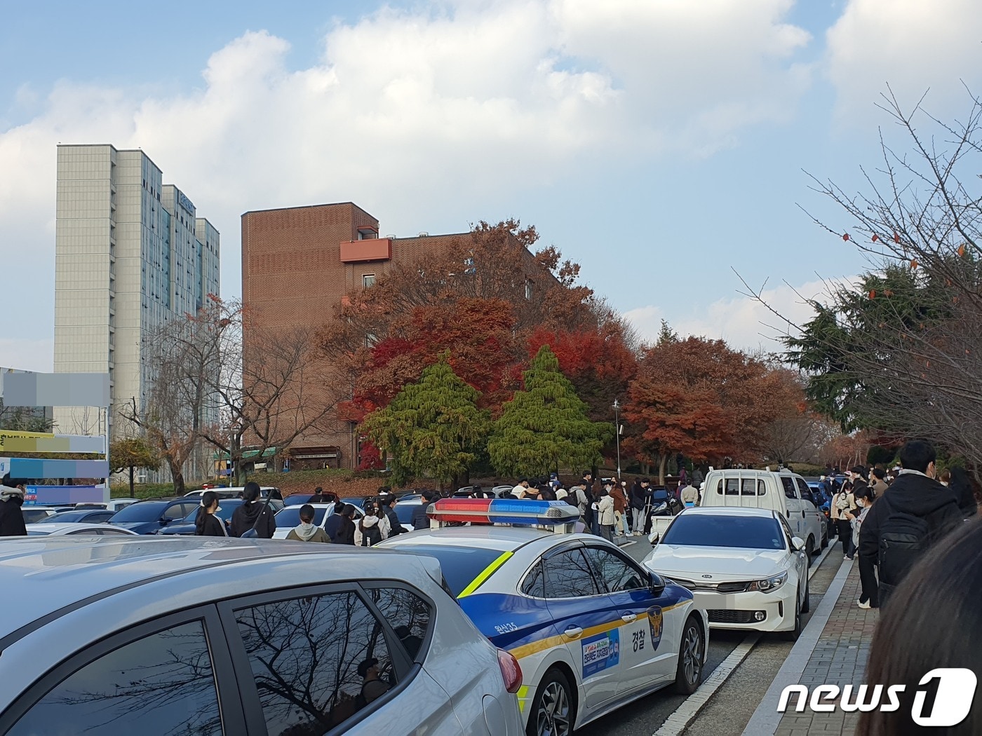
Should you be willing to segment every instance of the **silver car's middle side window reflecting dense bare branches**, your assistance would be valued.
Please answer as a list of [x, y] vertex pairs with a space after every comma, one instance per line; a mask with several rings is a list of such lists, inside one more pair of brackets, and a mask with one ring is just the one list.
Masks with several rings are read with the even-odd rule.
[[270, 734], [323, 733], [396, 685], [382, 624], [353, 592], [235, 615]]

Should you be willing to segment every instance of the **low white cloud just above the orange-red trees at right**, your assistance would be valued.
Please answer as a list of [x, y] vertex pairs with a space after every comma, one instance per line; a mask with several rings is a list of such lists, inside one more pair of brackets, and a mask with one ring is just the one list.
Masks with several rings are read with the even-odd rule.
[[791, 325], [803, 325], [813, 316], [809, 300], [822, 301], [830, 286], [851, 281], [851, 278], [811, 281], [796, 287], [764, 289], [761, 298], [773, 312], [755, 299], [735, 295], [708, 303], [684, 302], [668, 309], [643, 306], [627, 311], [624, 316], [646, 342], [657, 340], [661, 321], [665, 319], [682, 338], [692, 335], [724, 340], [740, 350], [752, 352], [763, 348], [778, 352], [784, 349], [780, 338], [795, 334]]

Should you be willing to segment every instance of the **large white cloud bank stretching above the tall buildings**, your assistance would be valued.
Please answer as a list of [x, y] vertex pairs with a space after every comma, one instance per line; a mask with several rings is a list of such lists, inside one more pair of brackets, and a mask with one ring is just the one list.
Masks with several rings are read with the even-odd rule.
[[308, 69], [288, 69], [289, 42], [259, 31], [212, 54], [190, 92], [59, 84], [37, 117], [0, 132], [0, 258], [25, 277], [18, 297], [43, 292], [49, 320], [58, 142], [146, 151], [221, 231], [226, 293], [240, 288], [249, 209], [354, 200], [387, 232], [433, 212], [463, 226], [489, 195], [589, 178], [615, 154], [705, 155], [787, 119], [807, 86], [794, 54], [808, 35], [783, 21], [790, 6], [383, 8], [334, 26]]

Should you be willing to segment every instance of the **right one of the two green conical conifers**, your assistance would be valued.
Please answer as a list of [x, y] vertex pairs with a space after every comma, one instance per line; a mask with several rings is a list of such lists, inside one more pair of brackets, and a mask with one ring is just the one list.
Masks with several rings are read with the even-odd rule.
[[505, 402], [488, 439], [495, 470], [533, 476], [592, 467], [613, 429], [590, 421], [549, 345], [539, 348], [523, 380], [524, 390]]

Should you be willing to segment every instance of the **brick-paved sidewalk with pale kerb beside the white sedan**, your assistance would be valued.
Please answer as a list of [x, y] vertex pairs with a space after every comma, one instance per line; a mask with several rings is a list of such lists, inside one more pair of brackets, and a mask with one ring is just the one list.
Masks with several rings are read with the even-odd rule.
[[[844, 560], [845, 561], [845, 560]], [[780, 695], [788, 685], [800, 684], [808, 687], [809, 691], [817, 685], [860, 685], [866, 659], [869, 657], [869, 647], [873, 640], [873, 630], [879, 612], [872, 608], [860, 608], [856, 605], [859, 598], [859, 564], [846, 562], [836, 575], [836, 582], [830, 587], [829, 593], [839, 595], [831, 611], [827, 602], [823, 601], [820, 608], [826, 609], [827, 620], [824, 625], [820, 620], [814, 621], [822, 625], [822, 631], [817, 636], [802, 636], [792, 650], [791, 656], [800, 664], [795, 668], [782, 668], [778, 673], [768, 696], [754, 713], [751, 723], [755, 724], [754, 736], [807, 736], [808, 734], [852, 734], [859, 722], [859, 713], [846, 713], [836, 709], [833, 712], [796, 712], [793, 705], [788, 712], [777, 712], [775, 693]], [[822, 613], [816, 610], [816, 616]], [[809, 622], [809, 626], [811, 622]], [[810, 632], [809, 632], [810, 633]], [[811, 640], [811, 641], [809, 641]], [[804, 651], [798, 651], [801, 645]], [[807, 648], [811, 647], [810, 652]], [[791, 660], [792, 657], [789, 657]], [[804, 657], [807, 657], [805, 659]], [[797, 697], [791, 699], [795, 703]], [[779, 719], [780, 718], [780, 719]], [[766, 726], [766, 727], [765, 727]], [[744, 733], [747, 733], [744, 731]]]

